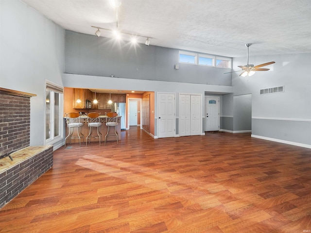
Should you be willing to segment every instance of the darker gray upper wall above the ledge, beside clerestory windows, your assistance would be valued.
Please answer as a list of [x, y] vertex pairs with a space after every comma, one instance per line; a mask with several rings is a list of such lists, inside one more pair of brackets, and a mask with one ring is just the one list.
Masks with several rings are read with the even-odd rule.
[[128, 42], [66, 31], [66, 73], [231, 85], [231, 74], [224, 74], [230, 69], [190, 64], [179, 64], [179, 69], [175, 69], [178, 51], [144, 44], [133, 46]]

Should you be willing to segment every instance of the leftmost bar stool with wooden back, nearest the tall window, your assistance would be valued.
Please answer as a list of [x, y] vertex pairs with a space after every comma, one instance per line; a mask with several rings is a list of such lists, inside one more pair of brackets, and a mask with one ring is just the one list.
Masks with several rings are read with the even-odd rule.
[[[71, 144], [71, 138], [79, 138], [79, 143], [81, 147], [81, 137], [84, 138], [84, 135], [81, 133], [81, 126], [83, 126], [83, 123], [81, 122], [81, 115], [79, 113], [65, 113], [65, 115], [67, 127], [69, 129], [68, 136], [65, 138], [65, 148], [66, 140], [68, 137], [69, 144]], [[76, 129], [77, 131], [77, 136], [72, 136], [74, 129]]]

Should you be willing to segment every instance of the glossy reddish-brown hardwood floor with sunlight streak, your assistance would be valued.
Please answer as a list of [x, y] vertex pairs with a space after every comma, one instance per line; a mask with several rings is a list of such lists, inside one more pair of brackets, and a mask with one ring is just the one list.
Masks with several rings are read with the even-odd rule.
[[311, 232], [310, 149], [249, 133], [121, 138], [54, 151], [0, 210], [0, 233]]

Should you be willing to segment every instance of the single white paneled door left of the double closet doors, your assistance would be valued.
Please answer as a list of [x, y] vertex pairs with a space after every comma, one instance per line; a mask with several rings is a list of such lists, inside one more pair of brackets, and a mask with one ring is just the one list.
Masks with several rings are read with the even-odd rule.
[[175, 136], [175, 94], [158, 93], [158, 137]]

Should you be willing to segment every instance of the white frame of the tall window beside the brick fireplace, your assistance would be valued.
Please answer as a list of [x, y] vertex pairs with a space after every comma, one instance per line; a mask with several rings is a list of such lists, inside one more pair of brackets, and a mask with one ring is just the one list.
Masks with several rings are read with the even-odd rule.
[[[49, 121], [49, 130], [50, 130], [50, 138], [46, 138], [47, 137], [47, 125], [48, 125], [48, 118], [47, 118], [47, 91], [50, 91], [50, 121]], [[58, 120], [58, 132], [59, 134], [54, 136], [54, 125], [55, 125], [55, 113], [54, 113], [54, 94], [58, 94], [58, 113], [56, 113], [56, 116], [57, 116], [57, 120]], [[61, 140], [63, 140], [64, 138], [64, 135], [63, 135], [63, 123], [64, 123], [64, 120], [63, 120], [63, 114], [62, 114], [62, 109], [63, 109], [63, 102], [64, 102], [64, 94], [63, 94], [63, 87], [55, 84], [55, 83], [52, 83], [52, 82], [49, 82], [49, 81], [46, 81], [46, 85], [45, 85], [45, 121], [44, 121], [44, 124], [45, 124], [45, 127], [44, 127], [44, 136], [45, 136], [45, 144], [46, 145], [53, 145], [55, 144], [56, 142], [59, 142]]]

